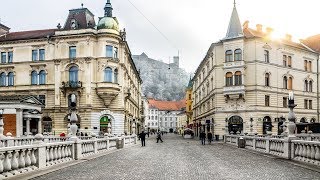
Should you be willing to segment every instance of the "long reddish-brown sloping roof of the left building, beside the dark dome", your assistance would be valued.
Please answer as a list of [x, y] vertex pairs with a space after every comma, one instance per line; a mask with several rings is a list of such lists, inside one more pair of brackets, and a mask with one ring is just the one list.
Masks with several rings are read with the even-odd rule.
[[11, 32], [6, 35], [0, 36], [0, 42], [47, 38], [48, 36], [53, 36], [55, 31], [56, 29], [44, 29], [44, 30]]

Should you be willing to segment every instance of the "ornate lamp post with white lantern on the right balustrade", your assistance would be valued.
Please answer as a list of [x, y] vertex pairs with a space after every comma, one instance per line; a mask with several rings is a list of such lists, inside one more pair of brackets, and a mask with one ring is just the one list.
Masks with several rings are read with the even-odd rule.
[[288, 113], [288, 120], [289, 123], [287, 124], [287, 131], [288, 131], [288, 137], [295, 137], [295, 129], [296, 129], [296, 116], [293, 112], [293, 108], [295, 108], [297, 105], [294, 104], [294, 95], [293, 92], [289, 92], [289, 103], [288, 103], [288, 107], [289, 107], [289, 113]]

